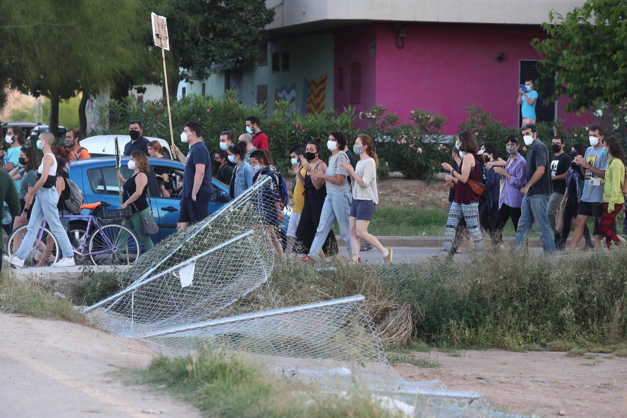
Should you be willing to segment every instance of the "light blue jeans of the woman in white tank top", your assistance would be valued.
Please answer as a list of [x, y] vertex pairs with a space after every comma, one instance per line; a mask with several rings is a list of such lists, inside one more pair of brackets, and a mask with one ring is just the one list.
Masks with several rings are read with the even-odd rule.
[[59, 193], [57, 193], [55, 187], [51, 187], [49, 189], [42, 187], [37, 192], [37, 196], [33, 203], [31, 219], [28, 221], [28, 227], [26, 227], [26, 235], [24, 235], [22, 244], [15, 253], [19, 258], [25, 260], [33, 249], [35, 239], [38, 237], [40, 232], [43, 217], [46, 217], [46, 223], [48, 223], [50, 232], [55, 235], [56, 240], [59, 242], [63, 257], [74, 256], [74, 251], [70, 245], [70, 239], [65, 233], [65, 229], [63, 229], [63, 225], [61, 225], [61, 220], [59, 219], [59, 211], [56, 208], [57, 203], [59, 203]]

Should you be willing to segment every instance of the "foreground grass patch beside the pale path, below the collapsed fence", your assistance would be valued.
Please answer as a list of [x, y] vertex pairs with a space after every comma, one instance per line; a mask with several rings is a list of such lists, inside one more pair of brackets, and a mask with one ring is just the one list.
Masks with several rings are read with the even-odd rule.
[[134, 383], [165, 387], [207, 417], [401, 417], [367, 392], [323, 394], [315, 385], [288, 380], [248, 358], [203, 351], [184, 358], [157, 357], [149, 367], [127, 370]]

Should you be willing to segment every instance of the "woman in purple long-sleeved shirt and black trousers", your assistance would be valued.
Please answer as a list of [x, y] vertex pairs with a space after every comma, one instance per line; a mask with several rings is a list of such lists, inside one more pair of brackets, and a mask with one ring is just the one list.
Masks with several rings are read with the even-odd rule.
[[507, 153], [510, 157], [505, 163], [505, 167], [495, 167], [495, 173], [500, 174], [505, 179], [503, 195], [498, 201], [497, 223], [495, 233], [492, 235], [492, 244], [498, 245], [502, 242], [503, 227], [511, 217], [514, 229], [518, 232], [518, 220], [520, 218], [520, 206], [522, 205], [522, 195], [520, 189], [527, 183], [527, 161], [518, 153], [520, 140], [517, 134], [508, 135], [505, 138]]

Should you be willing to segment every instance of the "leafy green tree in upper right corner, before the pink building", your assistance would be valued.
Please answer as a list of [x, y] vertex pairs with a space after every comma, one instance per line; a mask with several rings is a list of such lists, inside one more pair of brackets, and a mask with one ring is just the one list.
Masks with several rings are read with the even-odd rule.
[[547, 99], [569, 97], [567, 112], [590, 108], [597, 101], [623, 105], [627, 99], [625, 21], [627, 0], [587, 0], [566, 17], [551, 11], [549, 22], [542, 23], [551, 38], [532, 41], [544, 58], [537, 65], [539, 89], [542, 80], [556, 79], [555, 93]]

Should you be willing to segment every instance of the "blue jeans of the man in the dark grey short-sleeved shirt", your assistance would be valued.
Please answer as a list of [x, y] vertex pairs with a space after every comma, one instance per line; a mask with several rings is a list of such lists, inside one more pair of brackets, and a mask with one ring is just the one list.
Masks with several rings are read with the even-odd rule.
[[555, 241], [551, 226], [549, 225], [549, 216], [547, 206], [549, 205], [549, 196], [547, 195], [525, 195], [522, 198], [522, 206], [520, 206], [520, 219], [518, 221], [518, 232], [512, 249], [520, 247], [527, 243], [531, 227], [534, 226], [540, 235], [542, 249], [544, 252], [555, 252]]

